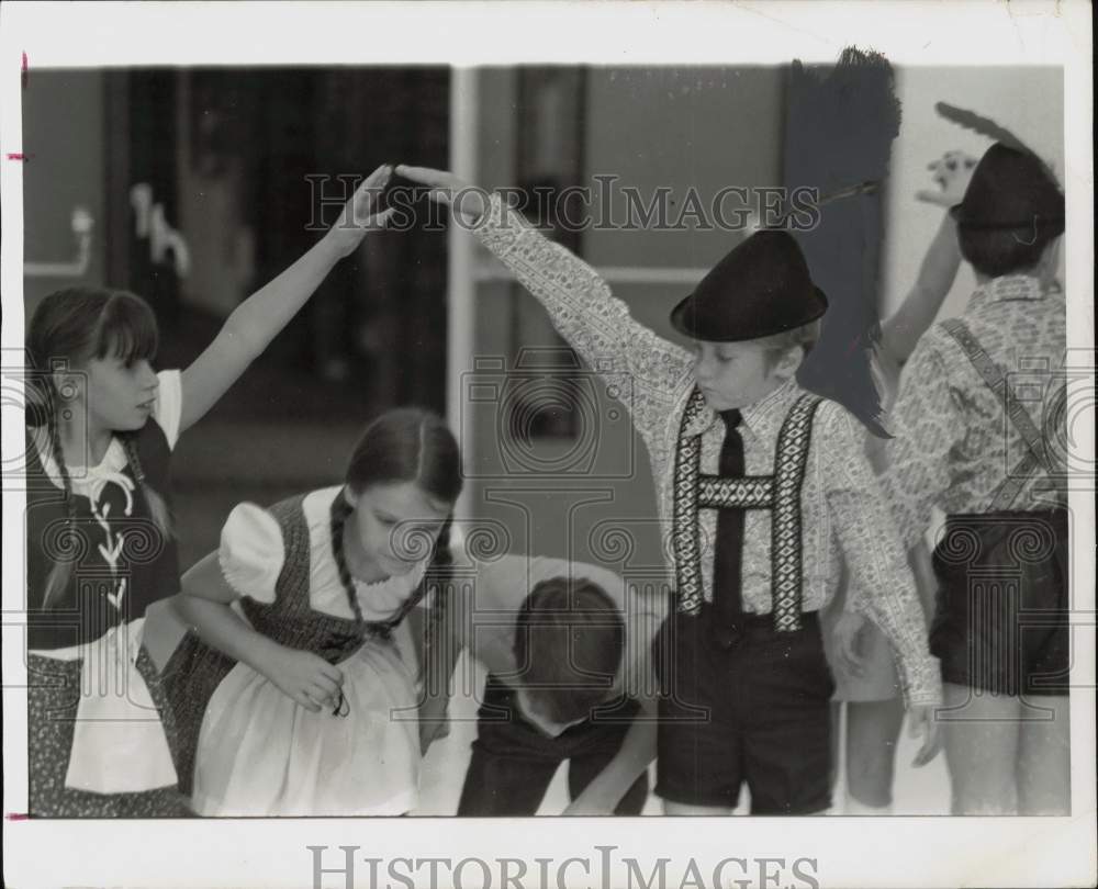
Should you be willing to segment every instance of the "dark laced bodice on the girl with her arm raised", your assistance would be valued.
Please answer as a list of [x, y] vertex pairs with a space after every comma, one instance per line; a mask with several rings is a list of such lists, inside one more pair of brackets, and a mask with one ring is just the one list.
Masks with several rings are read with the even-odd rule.
[[[144, 483], [168, 502], [171, 491], [171, 449], [164, 430], [148, 420], [138, 431], [117, 434], [136, 447]], [[26, 585], [27, 645], [31, 649], [61, 649], [99, 639], [112, 627], [145, 616], [159, 599], [179, 592], [179, 556], [176, 540], [153, 524], [144, 486], [137, 484], [128, 463], [124, 474], [134, 483], [133, 507], [125, 515], [125, 493], [108, 484], [100, 505], [110, 508], [112, 533], [122, 533], [124, 543], [114, 570], [103, 558], [103, 529], [91, 511], [90, 500], [75, 497], [75, 519], [67, 521], [65, 494], [49, 481], [30, 434], [26, 437]], [[68, 561], [72, 572], [61, 597], [43, 607], [46, 581], [55, 562]], [[121, 578], [125, 595], [113, 596]]]

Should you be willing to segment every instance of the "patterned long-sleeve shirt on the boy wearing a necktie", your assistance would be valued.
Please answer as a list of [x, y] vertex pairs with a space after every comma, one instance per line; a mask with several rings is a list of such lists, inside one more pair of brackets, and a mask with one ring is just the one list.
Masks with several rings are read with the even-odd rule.
[[[629, 374], [626, 407], [648, 448], [658, 508], [670, 538], [674, 463], [680, 425], [694, 390], [694, 359], [685, 349], [636, 322], [598, 273], [560, 245], [545, 238], [514, 210], [493, 196], [478, 225], [478, 236], [538, 299], [561, 336], [598, 372]], [[742, 410], [748, 475], [774, 471], [782, 423], [803, 394], [795, 382]], [[717, 474], [725, 428], [706, 407], [687, 435], [702, 437], [702, 472]], [[838, 588], [843, 563], [862, 590], [853, 607], [877, 623], [899, 654], [900, 680], [908, 704], [940, 700], [937, 662], [930, 656], [915, 583], [887, 503], [864, 453], [864, 434], [842, 407], [824, 402], [813, 426], [802, 487], [803, 608], [816, 611]], [[701, 511], [703, 588], [712, 598], [717, 510]], [[670, 545], [668, 559], [673, 560]], [[674, 565], [669, 564], [674, 572]], [[771, 516], [748, 510], [742, 559], [746, 610], [772, 608]]]

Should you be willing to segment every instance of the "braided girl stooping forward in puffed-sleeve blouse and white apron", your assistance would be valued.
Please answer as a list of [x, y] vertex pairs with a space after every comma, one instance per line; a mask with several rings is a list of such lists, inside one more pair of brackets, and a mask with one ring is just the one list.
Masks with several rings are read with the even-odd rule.
[[421, 671], [404, 618], [427, 599], [429, 628], [447, 598], [461, 482], [442, 420], [402, 408], [367, 427], [343, 484], [232, 511], [183, 577], [192, 629], [165, 669], [198, 814], [415, 808], [433, 655]]

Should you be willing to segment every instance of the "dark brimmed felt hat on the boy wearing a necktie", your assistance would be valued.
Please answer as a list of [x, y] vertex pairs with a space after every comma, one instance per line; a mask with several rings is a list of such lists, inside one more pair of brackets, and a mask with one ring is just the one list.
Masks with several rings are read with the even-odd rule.
[[671, 324], [691, 339], [740, 342], [803, 327], [826, 311], [794, 237], [764, 229], [713, 267], [671, 312]]

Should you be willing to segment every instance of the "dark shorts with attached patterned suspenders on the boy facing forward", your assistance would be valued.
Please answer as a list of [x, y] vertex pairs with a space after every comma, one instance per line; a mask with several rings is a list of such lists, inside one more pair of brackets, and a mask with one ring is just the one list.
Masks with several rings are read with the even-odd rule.
[[[697, 439], [680, 439], [675, 466], [677, 609], [653, 642], [661, 683], [656, 792], [735, 808], [744, 783], [754, 814], [808, 814], [830, 806], [834, 680], [816, 612], [800, 611], [800, 485], [819, 400], [803, 397], [783, 424], [773, 476], [720, 480], [698, 472]], [[683, 418], [701, 409], [692, 398]], [[773, 614], [743, 615], [715, 632], [701, 590], [697, 509], [772, 509]]]

